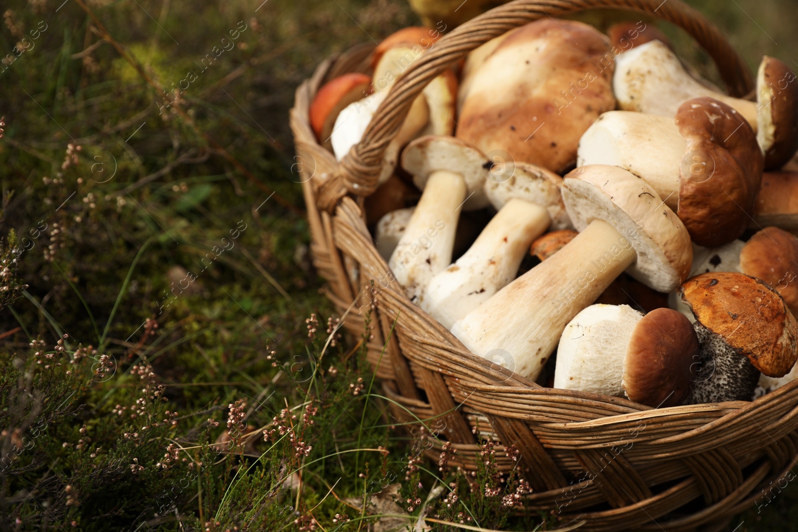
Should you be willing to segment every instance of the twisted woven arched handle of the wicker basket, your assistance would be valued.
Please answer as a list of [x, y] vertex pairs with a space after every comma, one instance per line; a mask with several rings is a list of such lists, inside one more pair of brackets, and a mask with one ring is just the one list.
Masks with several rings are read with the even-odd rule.
[[516, 0], [464, 23], [440, 38], [390, 89], [360, 142], [350, 149], [338, 169], [317, 183], [318, 208], [332, 211], [344, 195], [369, 195], [377, 187], [382, 156], [397, 135], [413, 100], [425, 86], [476, 47], [517, 26], [543, 17], [571, 14], [591, 8], [642, 11], [681, 26], [715, 61], [732, 96], [753, 89], [742, 58], [716, 26], [681, 0]]

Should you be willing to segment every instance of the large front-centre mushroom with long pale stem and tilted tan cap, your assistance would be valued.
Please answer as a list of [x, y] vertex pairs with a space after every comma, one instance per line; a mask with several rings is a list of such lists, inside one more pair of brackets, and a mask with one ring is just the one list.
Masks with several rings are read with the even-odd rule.
[[692, 261], [684, 225], [629, 171], [578, 168], [564, 179], [563, 201], [579, 235], [452, 327], [472, 353], [484, 357], [500, 349], [513, 371], [531, 379], [568, 321], [622, 271], [670, 292], [686, 278]]

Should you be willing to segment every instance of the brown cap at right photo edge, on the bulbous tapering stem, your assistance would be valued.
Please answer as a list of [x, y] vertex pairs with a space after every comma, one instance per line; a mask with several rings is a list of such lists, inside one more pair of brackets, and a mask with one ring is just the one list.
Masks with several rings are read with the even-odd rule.
[[757, 136], [764, 149], [764, 167], [780, 168], [798, 150], [798, 84], [792, 69], [764, 56], [757, 73], [760, 107]]

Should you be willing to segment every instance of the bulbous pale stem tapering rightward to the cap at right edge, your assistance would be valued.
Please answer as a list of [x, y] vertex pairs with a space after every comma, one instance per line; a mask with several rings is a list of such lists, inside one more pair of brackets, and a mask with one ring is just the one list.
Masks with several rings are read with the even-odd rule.
[[613, 89], [619, 108], [662, 116], [674, 116], [687, 100], [715, 98], [737, 109], [757, 132], [756, 102], [707, 89], [687, 73], [661, 41], [646, 42], [615, 57]]

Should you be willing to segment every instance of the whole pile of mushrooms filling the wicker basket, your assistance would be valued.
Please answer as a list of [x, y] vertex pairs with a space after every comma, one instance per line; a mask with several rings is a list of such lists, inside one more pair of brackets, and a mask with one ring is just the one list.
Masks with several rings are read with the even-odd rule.
[[[764, 57], [729, 97], [654, 26], [608, 33], [545, 18], [440, 74], [365, 223], [477, 356], [654, 408], [753, 400], [798, 378], [798, 81]], [[323, 85], [319, 143], [346, 155], [437, 37], [400, 30]]]

